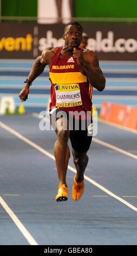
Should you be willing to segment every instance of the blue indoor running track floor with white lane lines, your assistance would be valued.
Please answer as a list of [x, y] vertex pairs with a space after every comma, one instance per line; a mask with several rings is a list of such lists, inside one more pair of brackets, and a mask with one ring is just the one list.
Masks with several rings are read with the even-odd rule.
[[71, 155], [69, 198], [56, 202], [56, 134], [39, 123], [37, 113], [1, 116], [0, 245], [136, 245], [137, 132], [99, 119], [82, 198], [71, 198]]

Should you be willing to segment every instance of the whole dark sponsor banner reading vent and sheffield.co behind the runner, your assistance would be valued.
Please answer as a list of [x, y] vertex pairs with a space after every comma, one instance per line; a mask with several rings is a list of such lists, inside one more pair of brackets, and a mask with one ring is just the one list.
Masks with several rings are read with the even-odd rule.
[[[136, 60], [136, 24], [81, 23], [89, 50], [100, 60]], [[1, 58], [35, 59], [45, 47], [62, 46], [64, 25], [0, 23]], [[55, 66], [56, 68], [56, 66]]]

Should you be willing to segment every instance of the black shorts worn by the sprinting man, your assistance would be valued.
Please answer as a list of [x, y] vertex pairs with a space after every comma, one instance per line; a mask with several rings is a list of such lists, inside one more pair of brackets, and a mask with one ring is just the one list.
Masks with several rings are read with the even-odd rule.
[[92, 134], [88, 132], [87, 127], [88, 125], [92, 124], [92, 119], [79, 120], [71, 117], [66, 111], [63, 111], [61, 108], [52, 109], [50, 113], [50, 124], [54, 130], [56, 120], [60, 117], [66, 117], [69, 120], [69, 138], [72, 148], [77, 153], [84, 153], [88, 151], [92, 142]]

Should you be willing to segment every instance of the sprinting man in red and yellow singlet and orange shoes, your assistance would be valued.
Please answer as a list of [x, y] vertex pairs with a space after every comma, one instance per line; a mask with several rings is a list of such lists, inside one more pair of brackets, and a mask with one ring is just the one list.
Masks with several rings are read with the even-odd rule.
[[[92, 141], [92, 136], [88, 136], [88, 129], [75, 130], [69, 125], [69, 117], [74, 113], [74, 118], [78, 119], [81, 125], [83, 119], [87, 118], [87, 113], [92, 113], [92, 90], [93, 87], [100, 92], [105, 88], [105, 77], [99, 67], [99, 60], [93, 51], [79, 48], [82, 41], [83, 29], [80, 23], [70, 22], [64, 29], [64, 46], [56, 48], [45, 48], [42, 55], [37, 57], [25, 86], [19, 93], [21, 101], [28, 99], [29, 87], [49, 65], [51, 81], [51, 101], [50, 120], [55, 121], [57, 139], [54, 145], [54, 155], [58, 173], [58, 191], [56, 200], [68, 199], [68, 187], [66, 173], [70, 150], [68, 139], [70, 138], [76, 175], [72, 188], [72, 197], [79, 200], [84, 192], [84, 170], [87, 167], [87, 151]], [[61, 111], [61, 115], [60, 115]], [[64, 115], [63, 115], [64, 113]], [[78, 113], [78, 115], [75, 115]], [[87, 121], [87, 120], [86, 120]], [[64, 123], [67, 129], [64, 129]], [[66, 126], [65, 126], [66, 127]]]

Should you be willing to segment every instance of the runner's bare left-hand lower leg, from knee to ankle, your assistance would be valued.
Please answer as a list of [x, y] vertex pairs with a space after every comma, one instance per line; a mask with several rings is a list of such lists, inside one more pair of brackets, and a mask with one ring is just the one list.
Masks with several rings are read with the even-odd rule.
[[[56, 121], [56, 131], [57, 131], [57, 139], [54, 145], [54, 155], [56, 160], [56, 167], [58, 173], [58, 181], [59, 186], [65, 184], [66, 182], [66, 174], [68, 168], [68, 161], [70, 157], [70, 150], [68, 147], [68, 139], [69, 139], [69, 130], [64, 130], [64, 126], [67, 127], [68, 120], [67, 118], [59, 118]], [[64, 125], [64, 126], [63, 126]]]

